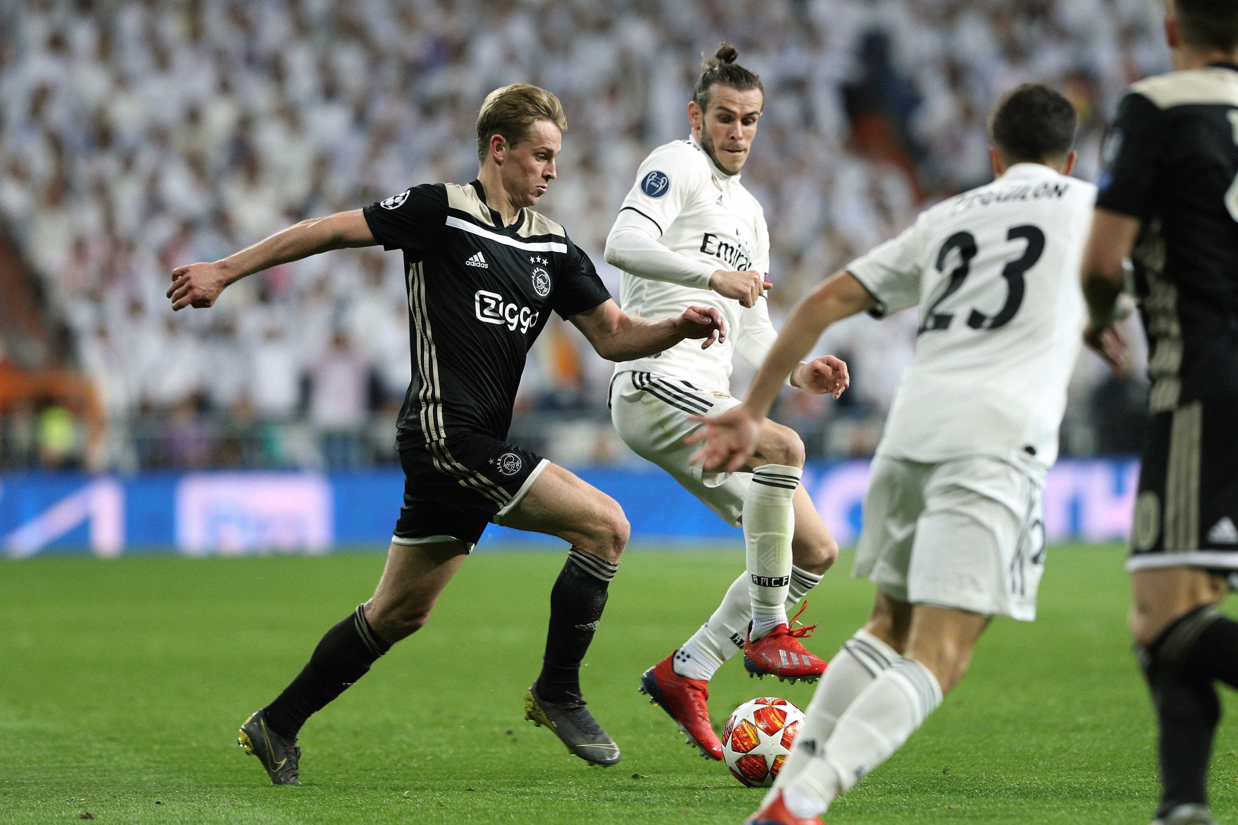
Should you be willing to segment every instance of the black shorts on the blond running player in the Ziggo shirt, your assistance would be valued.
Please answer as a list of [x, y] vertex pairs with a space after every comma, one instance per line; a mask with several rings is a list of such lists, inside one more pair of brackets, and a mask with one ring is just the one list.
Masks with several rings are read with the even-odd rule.
[[550, 465], [521, 447], [478, 434], [448, 435], [400, 450], [404, 505], [395, 544], [459, 540], [469, 550], [490, 522], [501, 524]]

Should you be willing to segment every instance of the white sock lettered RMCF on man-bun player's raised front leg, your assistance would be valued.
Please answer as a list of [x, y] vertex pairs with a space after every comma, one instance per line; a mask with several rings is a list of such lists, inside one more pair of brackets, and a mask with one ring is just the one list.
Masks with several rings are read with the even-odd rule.
[[753, 602], [749, 638], [753, 640], [786, 624], [791, 536], [795, 534], [791, 497], [799, 486], [799, 467], [763, 465], [753, 473], [753, 483], [744, 495], [744, 546]]

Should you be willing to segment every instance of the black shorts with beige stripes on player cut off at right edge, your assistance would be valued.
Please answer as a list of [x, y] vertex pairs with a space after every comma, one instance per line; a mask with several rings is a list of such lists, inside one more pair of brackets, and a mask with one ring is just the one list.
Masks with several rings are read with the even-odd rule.
[[1127, 570], [1179, 565], [1238, 571], [1238, 398], [1149, 421]]

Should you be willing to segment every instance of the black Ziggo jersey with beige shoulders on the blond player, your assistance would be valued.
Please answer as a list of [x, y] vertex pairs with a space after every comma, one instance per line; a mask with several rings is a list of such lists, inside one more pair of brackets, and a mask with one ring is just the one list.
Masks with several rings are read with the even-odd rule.
[[396, 443], [435, 448], [453, 431], [504, 440], [525, 357], [553, 310], [610, 297], [563, 228], [530, 209], [503, 225], [478, 181], [425, 183], [363, 209], [404, 251], [412, 383]]

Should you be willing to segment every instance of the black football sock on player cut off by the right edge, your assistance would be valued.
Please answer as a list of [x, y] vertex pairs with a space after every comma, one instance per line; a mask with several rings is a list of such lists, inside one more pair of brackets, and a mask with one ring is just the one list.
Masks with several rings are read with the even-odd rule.
[[1221, 721], [1213, 679], [1234, 676], [1234, 626], [1216, 607], [1201, 607], [1139, 650], [1160, 727], [1158, 816], [1179, 805], [1207, 804], [1208, 761]]

